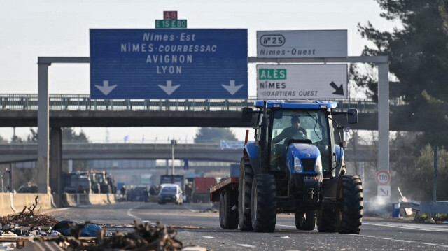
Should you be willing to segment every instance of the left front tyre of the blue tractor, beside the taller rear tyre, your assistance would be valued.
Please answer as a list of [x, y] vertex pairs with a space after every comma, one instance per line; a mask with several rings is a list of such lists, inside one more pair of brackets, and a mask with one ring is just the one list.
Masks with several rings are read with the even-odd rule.
[[274, 175], [255, 175], [251, 198], [252, 229], [255, 232], [273, 232], [277, 217], [277, 196]]

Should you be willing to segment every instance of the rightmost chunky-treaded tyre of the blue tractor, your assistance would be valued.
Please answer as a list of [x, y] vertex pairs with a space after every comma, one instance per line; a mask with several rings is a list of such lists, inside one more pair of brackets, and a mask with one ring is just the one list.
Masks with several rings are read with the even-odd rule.
[[359, 234], [363, 220], [363, 185], [359, 176], [342, 175], [337, 186], [337, 231], [341, 234]]

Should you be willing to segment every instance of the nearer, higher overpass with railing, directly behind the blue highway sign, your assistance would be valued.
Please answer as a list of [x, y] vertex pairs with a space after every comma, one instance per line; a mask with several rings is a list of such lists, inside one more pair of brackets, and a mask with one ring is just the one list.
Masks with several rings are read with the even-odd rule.
[[[50, 127], [248, 127], [241, 109], [249, 99], [90, 99], [87, 94], [50, 94]], [[371, 99], [335, 99], [336, 110], [357, 108], [359, 123], [352, 129], [377, 130], [377, 103]], [[403, 106], [392, 100], [390, 106]], [[37, 94], [0, 94], [0, 127], [36, 127]], [[397, 113], [395, 113], [397, 114]], [[346, 124], [343, 116], [336, 116]], [[409, 129], [391, 117], [391, 130]], [[255, 121], [255, 117], [253, 122]], [[412, 124], [410, 125], [412, 126]]]

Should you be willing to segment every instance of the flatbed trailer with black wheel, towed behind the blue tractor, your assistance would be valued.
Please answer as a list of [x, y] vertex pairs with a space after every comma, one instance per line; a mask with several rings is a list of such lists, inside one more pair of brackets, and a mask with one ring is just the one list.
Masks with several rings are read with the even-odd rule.
[[237, 229], [238, 219], [238, 177], [229, 177], [212, 185], [210, 201], [219, 201], [219, 224], [223, 229]]

